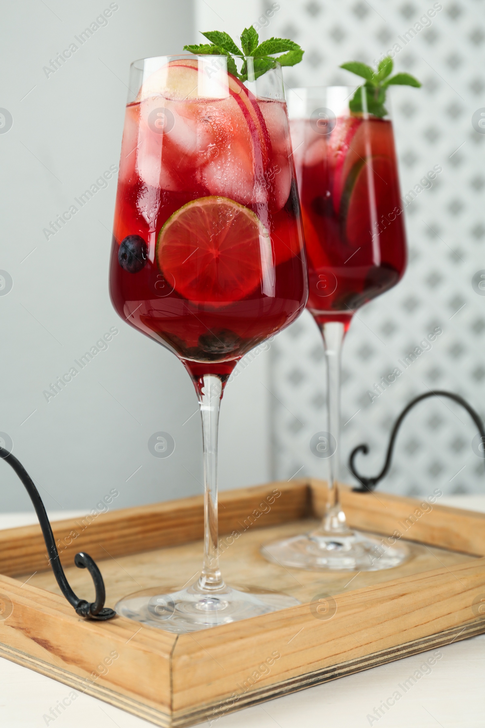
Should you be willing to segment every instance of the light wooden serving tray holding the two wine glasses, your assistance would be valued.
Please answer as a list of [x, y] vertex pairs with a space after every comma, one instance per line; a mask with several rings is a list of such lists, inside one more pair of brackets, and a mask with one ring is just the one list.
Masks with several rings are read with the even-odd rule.
[[[40, 527], [0, 531], [0, 655], [175, 727], [485, 632], [478, 610], [485, 601], [485, 514], [342, 486], [350, 525], [400, 532], [409, 539], [408, 562], [322, 574], [262, 558], [262, 542], [310, 529], [325, 501], [318, 480], [221, 493], [225, 578], [292, 594], [302, 604], [178, 636], [122, 617], [82, 620], [60, 596]], [[87, 572], [72, 566], [84, 550], [97, 560], [107, 606], [114, 606], [140, 588], [180, 587], [196, 577], [202, 498], [117, 510], [91, 523], [61, 521], [53, 530], [76, 593], [94, 598]], [[321, 594], [333, 595], [332, 618], [321, 619], [311, 604]]]

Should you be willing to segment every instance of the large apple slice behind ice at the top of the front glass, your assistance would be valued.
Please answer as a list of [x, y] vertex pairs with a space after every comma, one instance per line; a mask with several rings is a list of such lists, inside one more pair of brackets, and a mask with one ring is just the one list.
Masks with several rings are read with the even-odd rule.
[[[214, 97], [210, 100], [200, 95], [209, 81]], [[244, 84], [231, 74], [218, 76], [217, 68], [204, 68], [199, 60], [181, 59], [148, 76], [137, 101], [143, 106], [140, 131], [148, 146], [151, 135], [159, 136], [154, 157], [163, 159], [170, 170], [201, 167], [197, 181], [209, 193], [231, 194], [244, 204], [251, 201], [255, 183], [268, 167], [270, 142], [257, 100]], [[163, 145], [151, 119], [158, 107], [167, 122]]]

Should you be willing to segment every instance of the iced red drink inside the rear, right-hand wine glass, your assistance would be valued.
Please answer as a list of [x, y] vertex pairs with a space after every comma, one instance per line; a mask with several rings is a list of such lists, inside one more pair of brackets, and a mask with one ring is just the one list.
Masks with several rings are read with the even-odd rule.
[[341, 321], [396, 285], [406, 237], [389, 121], [340, 117], [329, 135], [290, 122], [308, 263], [308, 309]]

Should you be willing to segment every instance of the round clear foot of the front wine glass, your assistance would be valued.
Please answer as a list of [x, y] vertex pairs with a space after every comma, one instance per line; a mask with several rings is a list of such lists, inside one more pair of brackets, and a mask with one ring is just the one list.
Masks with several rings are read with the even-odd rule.
[[298, 604], [292, 596], [257, 587], [225, 586], [209, 594], [197, 590], [194, 584], [178, 591], [157, 587], [135, 592], [121, 599], [115, 610], [129, 620], [167, 632], [184, 633], [248, 620]]

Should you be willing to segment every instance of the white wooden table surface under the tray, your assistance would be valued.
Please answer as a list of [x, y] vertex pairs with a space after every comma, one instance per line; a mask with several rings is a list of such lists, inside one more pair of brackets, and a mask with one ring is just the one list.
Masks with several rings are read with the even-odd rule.
[[[485, 496], [449, 496], [440, 502], [485, 512]], [[51, 520], [71, 515], [81, 514], [77, 511], [49, 513]], [[35, 522], [35, 516], [30, 514], [0, 516], [0, 528]], [[212, 725], [217, 728], [484, 728], [485, 635], [441, 647], [436, 664], [420, 670], [427, 674], [404, 693], [399, 686], [434, 652], [423, 652], [246, 708], [212, 721]], [[382, 702], [392, 698], [396, 691], [401, 697], [388, 711], [381, 709], [379, 713]], [[71, 692], [62, 683], [0, 658], [1, 728], [40, 728], [54, 724], [55, 728], [152, 725], [79, 693], [56, 716], [56, 705]]]

